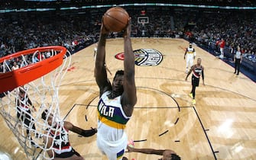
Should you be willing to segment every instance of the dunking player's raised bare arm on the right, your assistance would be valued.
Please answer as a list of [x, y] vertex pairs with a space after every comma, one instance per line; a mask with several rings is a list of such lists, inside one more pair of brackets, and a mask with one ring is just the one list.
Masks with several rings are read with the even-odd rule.
[[122, 106], [127, 116], [131, 116], [133, 107], [137, 102], [134, 80], [134, 53], [131, 46], [131, 18], [124, 35], [125, 60], [124, 60], [124, 93], [122, 94]]

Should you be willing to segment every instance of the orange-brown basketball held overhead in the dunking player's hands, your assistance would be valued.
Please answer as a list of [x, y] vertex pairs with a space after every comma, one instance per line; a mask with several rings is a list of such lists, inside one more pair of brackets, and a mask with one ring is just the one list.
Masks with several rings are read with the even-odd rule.
[[120, 32], [125, 29], [128, 24], [129, 14], [121, 7], [113, 7], [105, 12], [103, 24], [107, 30]]

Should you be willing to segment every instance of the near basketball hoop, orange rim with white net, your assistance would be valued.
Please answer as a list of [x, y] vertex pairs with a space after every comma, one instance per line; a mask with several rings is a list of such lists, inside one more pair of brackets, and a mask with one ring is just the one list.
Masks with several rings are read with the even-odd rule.
[[[47, 148], [41, 136], [48, 141], [49, 137], [54, 139], [56, 134], [50, 135], [53, 126], [47, 120], [41, 120], [41, 114], [47, 109], [53, 114], [53, 122], [60, 121], [58, 91], [71, 63], [70, 52], [66, 51], [63, 46], [45, 46], [0, 59], [4, 68], [4, 72], [0, 73], [0, 93], [4, 95], [0, 98], [0, 114], [24, 148], [28, 159], [52, 159], [47, 151], [53, 149], [53, 144]], [[21, 59], [21, 68], [11, 71], [10, 62], [14, 59]], [[22, 91], [24, 98], [21, 100]], [[28, 111], [32, 107], [37, 111]], [[29, 123], [26, 123], [28, 117]], [[63, 132], [62, 127], [63, 123], [60, 123], [60, 128], [54, 130], [56, 133]]]

